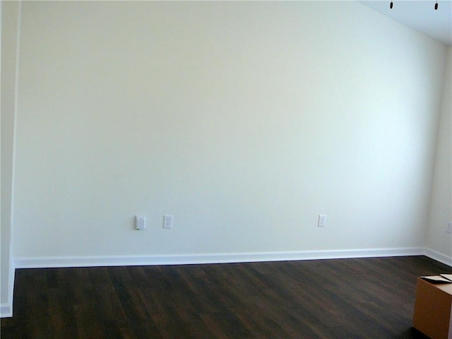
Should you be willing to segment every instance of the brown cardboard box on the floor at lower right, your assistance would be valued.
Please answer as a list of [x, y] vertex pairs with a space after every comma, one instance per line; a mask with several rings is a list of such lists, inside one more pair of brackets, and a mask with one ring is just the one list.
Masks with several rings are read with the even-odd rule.
[[417, 278], [412, 326], [432, 339], [452, 339], [452, 283]]

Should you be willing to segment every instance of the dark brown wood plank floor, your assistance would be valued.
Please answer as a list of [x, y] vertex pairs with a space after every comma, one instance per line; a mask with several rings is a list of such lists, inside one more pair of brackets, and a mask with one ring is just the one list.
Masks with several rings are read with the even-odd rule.
[[1, 338], [424, 338], [425, 256], [16, 271]]

